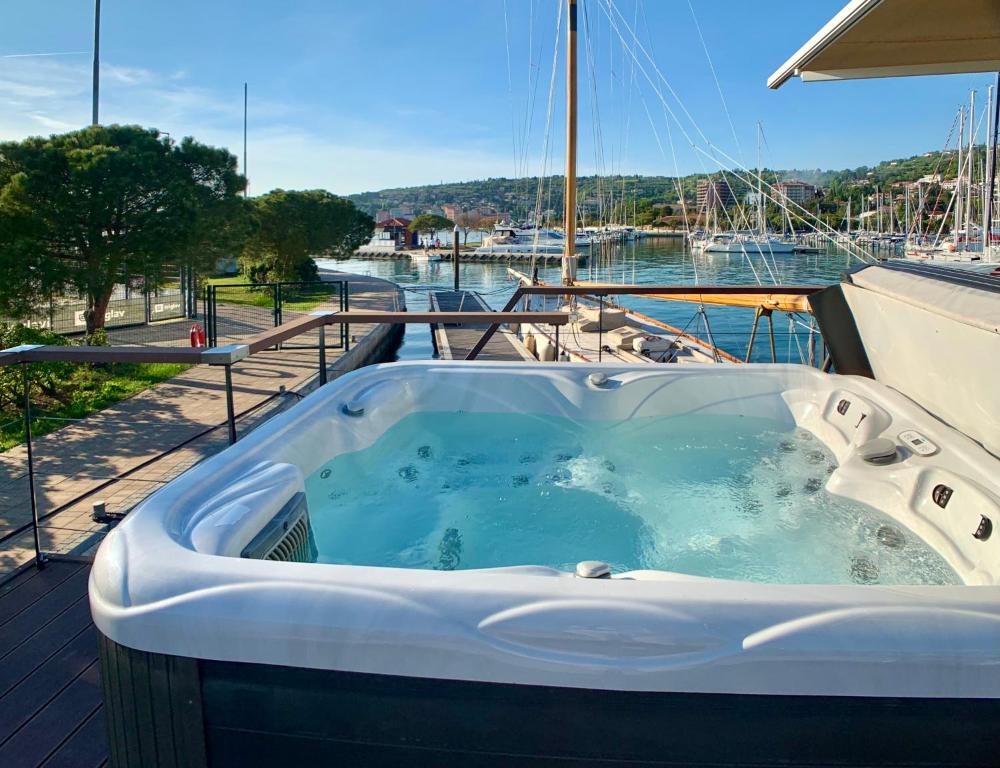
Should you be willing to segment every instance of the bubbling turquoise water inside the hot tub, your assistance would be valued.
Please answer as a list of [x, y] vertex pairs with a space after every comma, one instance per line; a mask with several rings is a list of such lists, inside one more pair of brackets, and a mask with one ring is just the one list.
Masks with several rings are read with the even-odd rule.
[[757, 417], [433, 412], [327, 462], [306, 493], [320, 562], [961, 583], [890, 517], [827, 493], [835, 468], [809, 432]]

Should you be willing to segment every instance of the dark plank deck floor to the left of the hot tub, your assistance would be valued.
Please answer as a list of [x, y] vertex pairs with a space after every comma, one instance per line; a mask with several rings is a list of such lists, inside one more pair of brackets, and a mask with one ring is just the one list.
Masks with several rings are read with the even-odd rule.
[[107, 763], [90, 565], [55, 560], [0, 584], [0, 766]]

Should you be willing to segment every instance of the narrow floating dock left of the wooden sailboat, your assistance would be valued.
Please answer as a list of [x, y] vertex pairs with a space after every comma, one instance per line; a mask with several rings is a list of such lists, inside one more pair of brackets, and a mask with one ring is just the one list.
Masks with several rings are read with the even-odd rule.
[[[433, 312], [492, 312], [475, 291], [433, 291]], [[442, 360], [464, 360], [489, 325], [486, 323], [431, 323], [434, 351]], [[530, 360], [534, 356], [509, 328], [501, 327], [479, 353], [478, 360]]]

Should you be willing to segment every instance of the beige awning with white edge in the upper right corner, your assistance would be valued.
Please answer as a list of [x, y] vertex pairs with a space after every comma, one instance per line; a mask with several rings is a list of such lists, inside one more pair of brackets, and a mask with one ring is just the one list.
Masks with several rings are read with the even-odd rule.
[[852, 0], [767, 85], [998, 70], [1000, 0]]

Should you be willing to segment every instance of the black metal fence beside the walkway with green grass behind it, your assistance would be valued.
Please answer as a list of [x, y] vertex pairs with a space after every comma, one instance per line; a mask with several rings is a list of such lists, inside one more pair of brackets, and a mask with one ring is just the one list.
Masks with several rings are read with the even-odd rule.
[[[202, 294], [206, 344], [215, 347], [239, 341], [324, 309], [339, 312], [349, 309], [346, 281], [206, 285]], [[340, 345], [347, 345], [346, 329], [341, 330]], [[312, 348], [315, 343], [294, 346]]]

